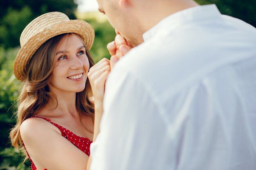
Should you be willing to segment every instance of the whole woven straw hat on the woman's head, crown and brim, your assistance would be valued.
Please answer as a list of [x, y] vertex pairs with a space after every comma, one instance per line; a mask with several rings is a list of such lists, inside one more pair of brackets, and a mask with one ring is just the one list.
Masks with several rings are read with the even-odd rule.
[[61, 12], [45, 13], [31, 21], [20, 35], [21, 49], [13, 65], [15, 77], [24, 81], [27, 65], [36, 50], [50, 38], [63, 33], [76, 33], [90, 50], [94, 41], [94, 30], [83, 20], [70, 20]]

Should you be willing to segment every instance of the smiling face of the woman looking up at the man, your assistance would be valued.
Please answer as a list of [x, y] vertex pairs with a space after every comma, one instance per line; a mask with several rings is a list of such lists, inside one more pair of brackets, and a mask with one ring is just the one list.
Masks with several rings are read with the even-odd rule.
[[61, 40], [55, 50], [54, 62], [48, 84], [51, 92], [77, 93], [84, 90], [90, 64], [83, 41], [78, 35], [67, 35]]

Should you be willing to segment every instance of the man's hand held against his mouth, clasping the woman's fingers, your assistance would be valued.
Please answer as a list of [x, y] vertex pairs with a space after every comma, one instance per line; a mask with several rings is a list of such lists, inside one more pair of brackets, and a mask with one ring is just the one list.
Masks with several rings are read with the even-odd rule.
[[111, 55], [110, 57], [110, 68], [113, 68], [115, 64], [118, 62], [120, 57], [123, 57], [132, 46], [123, 38], [118, 31], [116, 31], [117, 35], [115, 37], [115, 41], [108, 43], [107, 49]]

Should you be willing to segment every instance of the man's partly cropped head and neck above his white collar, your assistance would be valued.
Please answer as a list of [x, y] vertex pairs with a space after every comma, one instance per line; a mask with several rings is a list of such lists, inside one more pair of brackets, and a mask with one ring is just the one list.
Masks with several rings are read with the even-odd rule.
[[132, 44], [144, 40], [142, 34], [160, 20], [197, 4], [193, 0], [97, 0], [99, 11], [110, 24]]

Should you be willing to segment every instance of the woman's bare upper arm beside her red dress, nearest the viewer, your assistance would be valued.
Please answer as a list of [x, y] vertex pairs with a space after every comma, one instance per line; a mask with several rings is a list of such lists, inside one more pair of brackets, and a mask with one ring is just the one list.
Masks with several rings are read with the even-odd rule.
[[20, 134], [38, 170], [85, 170], [89, 157], [48, 121], [26, 119], [20, 126]]

